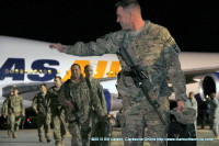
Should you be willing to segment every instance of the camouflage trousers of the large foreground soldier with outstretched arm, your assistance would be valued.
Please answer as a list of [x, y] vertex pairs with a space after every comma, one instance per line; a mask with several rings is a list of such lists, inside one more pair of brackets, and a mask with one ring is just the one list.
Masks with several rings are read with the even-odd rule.
[[[137, 88], [129, 77], [126, 82], [118, 80], [117, 89], [123, 98], [123, 110], [125, 115], [125, 127], [123, 138], [125, 146], [143, 146], [143, 141], [132, 138], [165, 138], [168, 124], [163, 124], [152, 105], [146, 99], [140, 88]], [[170, 103], [168, 97], [159, 97], [160, 106], [158, 111], [164, 121], [169, 121], [168, 111]], [[147, 135], [145, 135], [147, 127]], [[151, 146], [165, 146], [163, 141], [149, 141]]]

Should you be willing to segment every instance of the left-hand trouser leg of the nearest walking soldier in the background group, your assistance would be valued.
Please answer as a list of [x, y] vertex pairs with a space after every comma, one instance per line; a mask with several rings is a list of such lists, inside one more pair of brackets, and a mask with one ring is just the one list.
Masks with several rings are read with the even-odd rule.
[[69, 123], [69, 133], [71, 134], [71, 146], [82, 146], [81, 126], [77, 123]]

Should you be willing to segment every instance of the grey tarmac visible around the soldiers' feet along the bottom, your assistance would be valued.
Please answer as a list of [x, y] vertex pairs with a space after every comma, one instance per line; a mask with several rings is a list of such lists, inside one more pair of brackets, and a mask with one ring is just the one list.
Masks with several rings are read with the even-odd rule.
[[[110, 146], [124, 146], [122, 138], [122, 130], [116, 127], [113, 130], [113, 136], [110, 142]], [[71, 145], [71, 136], [68, 134], [65, 139], [65, 146]], [[208, 127], [205, 130], [197, 130], [197, 146], [218, 146], [219, 139], [215, 139], [215, 135]], [[37, 130], [20, 130], [18, 138], [8, 137], [5, 130], [0, 130], [0, 146], [55, 146], [55, 141], [51, 138], [50, 143], [38, 142]], [[145, 141], [143, 146], [150, 146]]]

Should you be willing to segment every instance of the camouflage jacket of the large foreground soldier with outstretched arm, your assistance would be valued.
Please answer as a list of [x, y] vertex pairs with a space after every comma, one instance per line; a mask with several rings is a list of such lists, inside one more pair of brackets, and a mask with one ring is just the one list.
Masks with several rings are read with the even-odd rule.
[[[168, 86], [170, 82], [176, 100], [186, 100], [185, 77], [178, 60], [180, 48], [168, 29], [150, 21], [146, 21], [146, 25], [138, 32], [118, 31], [106, 34], [96, 42], [87, 44], [78, 42], [72, 46], [67, 46], [66, 53], [79, 56], [100, 56], [116, 54], [122, 46], [131, 55], [135, 64], [149, 76], [150, 81], [160, 87], [159, 97], [171, 94], [172, 89]], [[118, 59], [122, 71], [130, 70], [120, 56]]]

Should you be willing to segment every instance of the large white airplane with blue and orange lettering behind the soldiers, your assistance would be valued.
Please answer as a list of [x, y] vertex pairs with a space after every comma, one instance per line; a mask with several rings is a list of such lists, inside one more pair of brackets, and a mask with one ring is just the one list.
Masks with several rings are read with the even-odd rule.
[[[94, 78], [100, 79], [107, 102], [107, 111], [122, 108], [116, 90], [116, 76], [120, 70], [115, 54], [103, 56], [73, 56], [50, 49], [47, 42], [0, 35], [0, 106], [13, 87], [20, 89], [25, 108], [31, 106], [38, 86], [46, 82], [53, 86], [56, 75], [64, 81], [70, 78], [70, 66], [79, 64], [82, 68], [92, 65]], [[206, 96], [216, 93], [219, 99], [219, 54], [181, 53], [180, 61], [186, 78], [186, 92], [194, 91], [205, 101]], [[170, 85], [171, 86], [171, 85]], [[174, 100], [174, 94], [170, 97]]]

